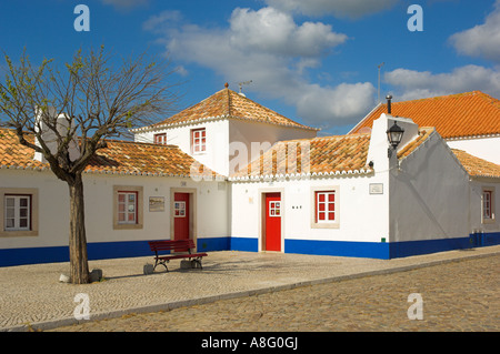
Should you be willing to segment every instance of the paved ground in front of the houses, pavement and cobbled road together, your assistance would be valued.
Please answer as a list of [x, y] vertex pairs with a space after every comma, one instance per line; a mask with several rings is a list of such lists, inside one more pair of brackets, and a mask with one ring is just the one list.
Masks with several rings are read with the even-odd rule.
[[[144, 275], [150, 260], [92, 261], [104, 279], [89, 285], [59, 283], [67, 263], [0, 269], [0, 331], [500, 331], [500, 246], [389, 261], [224, 251]], [[79, 293], [90, 321], [68, 326]]]

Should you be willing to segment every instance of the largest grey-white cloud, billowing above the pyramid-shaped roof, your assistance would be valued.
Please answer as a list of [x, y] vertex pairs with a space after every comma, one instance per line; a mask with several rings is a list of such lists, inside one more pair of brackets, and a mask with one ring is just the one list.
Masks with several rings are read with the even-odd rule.
[[374, 104], [371, 83], [331, 88], [308, 82], [307, 68], [320, 67], [321, 58], [347, 40], [331, 26], [298, 24], [271, 8], [238, 8], [226, 29], [182, 23], [178, 16], [164, 12], [144, 23], [161, 36], [172, 59], [209, 68], [228, 82], [252, 80], [246, 92], [294, 105], [306, 123], [324, 129], [353, 124]]

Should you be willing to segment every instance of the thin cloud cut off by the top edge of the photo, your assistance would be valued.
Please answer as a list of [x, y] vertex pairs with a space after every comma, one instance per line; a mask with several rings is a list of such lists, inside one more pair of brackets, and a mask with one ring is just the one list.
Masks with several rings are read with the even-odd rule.
[[307, 16], [332, 14], [340, 18], [361, 18], [391, 8], [399, 0], [266, 0], [273, 8], [297, 11]]

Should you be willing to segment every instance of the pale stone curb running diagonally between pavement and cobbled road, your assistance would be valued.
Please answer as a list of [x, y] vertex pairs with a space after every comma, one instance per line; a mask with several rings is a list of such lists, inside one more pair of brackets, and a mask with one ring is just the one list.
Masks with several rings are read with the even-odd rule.
[[332, 276], [332, 277], [317, 279], [317, 280], [297, 282], [297, 283], [291, 283], [291, 284], [267, 286], [267, 287], [261, 287], [261, 289], [253, 289], [253, 290], [247, 290], [247, 291], [241, 291], [241, 292], [218, 294], [218, 295], [211, 295], [211, 296], [199, 297], [199, 299], [180, 300], [180, 301], [176, 301], [176, 302], [152, 304], [152, 305], [148, 305], [148, 306], [122, 309], [122, 310], [110, 311], [110, 312], [101, 312], [101, 313], [91, 314], [90, 320], [77, 320], [74, 317], [66, 317], [66, 318], [59, 318], [59, 320], [36, 322], [36, 323], [30, 323], [30, 324], [24, 324], [24, 325], [17, 325], [17, 326], [12, 326], [12, 327], [3, 327], [3, 328], [0, 328], [0, 332], [47, 331], [47, 330], [52, 330], [52, 328], [57, 328], [57, 327], [61, 327], [61, 326], [70, 326], [73, 324], [88, 323], [89, 321], [102, 321], [102, 320], [117, 318], [117, 317], [121, 317], [124, 315], [131, 315], [131, 314], [171, 311], [171, 310], [180, 309], [180, 307], [212, 303], [212, 302], [217, 302], [220, 300], [231, 300], [231, 299], [237, 299], [237, 297], [254, 296], [254, 295], [279, 292], [279, 291], [283, 291], [283, 290], [292, 290], [292, 289], [302, 287], [302, 286], [319, 285], [319, 284], [341, 282], [341, 281], [347, 281], [347, 280], [356, 280], [356, 279], [373, 276], [373, 275], [386, 275], [386, 274], [392, 274], [392, 273], [398, 273], [398, 272], [408, 272], [408, 271], [412, 271], [412, 270], [418, 270], [418, 269], [423, 269], [423, 267], [429, 267], [429, 266], [434, 266], [434, 265], [441, 265], [441, 264], [447, 264], [447, 263], [496, 256], [499, 254], [500, 254], [500, 251], [483, 253], [483, 254], [472, 254], [472, 255], [461, 256], [461, 257], [456, 257], [456, 259], [429, 261], [429, 262], [423, 262], [420, 264], [403, 265], [403, 266], [389, 267], [389, 269], [383, 269], [383, 270], [360, 272], [360, 273], [348, 274], [348, 275], [338, 275], [338, 276]]

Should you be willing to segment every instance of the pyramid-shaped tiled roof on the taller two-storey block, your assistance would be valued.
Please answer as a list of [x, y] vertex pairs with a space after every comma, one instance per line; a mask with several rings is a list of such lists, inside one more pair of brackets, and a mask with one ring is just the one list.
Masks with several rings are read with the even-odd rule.
[[158, 130], [171, 125], [198, 123], [217, 119], [237, 119], [252, 122], [293, 127], [306, 130], [319, 130], [288, 119], [232, 90], [216, 92], [203, 101], [173, 114], [160, 123], [134, 129], [133, 132]]

